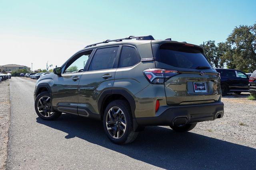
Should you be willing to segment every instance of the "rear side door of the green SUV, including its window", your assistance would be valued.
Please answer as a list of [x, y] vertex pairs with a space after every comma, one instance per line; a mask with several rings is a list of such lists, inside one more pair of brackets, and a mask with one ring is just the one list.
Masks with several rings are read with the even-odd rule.
[[112, 90], [120, 46], [97, 48], [80, 78], [78, 88], [78, 114], [97, 117], [97, 100], [104, 90]]

